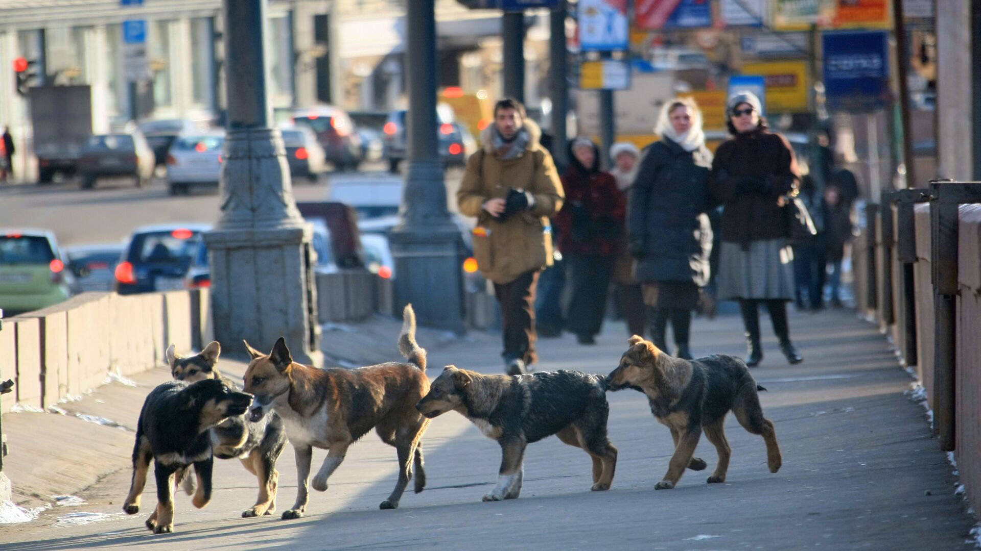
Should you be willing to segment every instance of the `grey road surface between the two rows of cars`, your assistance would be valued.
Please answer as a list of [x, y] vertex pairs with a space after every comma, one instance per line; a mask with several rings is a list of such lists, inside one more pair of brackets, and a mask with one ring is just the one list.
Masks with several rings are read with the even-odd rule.
[[[304, 178], [293, 182], [296, 201], [325, 201], [333, 177], [387, 175], [381, 164], [366, 165], [359, 173], [330, 173], [316, 184]], [[401, 177], [401, 176], [399, 176]], [[452, 198], [461, 172], [446, 172], [447, 197]], [[50, 229], [61, 246], [117, 243], [140, 225], [214, 224], [220, 214], [217, 190], [199, 190], [191, 195], [169, 195], [167, 182], [154, 179], [143, 188], [128, 180], [100, 181], [95, 189], [79, 189], [68, 179], [48, 185], [0, 184], [0, 227]], [[456, 201], [447, 201], [455, 210]]]

